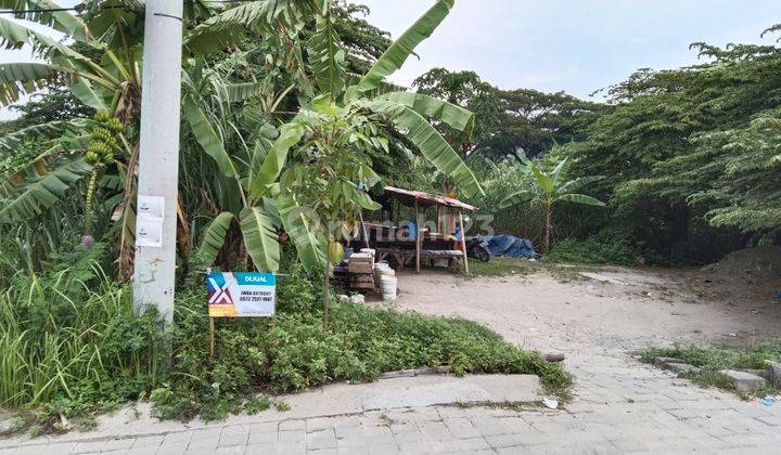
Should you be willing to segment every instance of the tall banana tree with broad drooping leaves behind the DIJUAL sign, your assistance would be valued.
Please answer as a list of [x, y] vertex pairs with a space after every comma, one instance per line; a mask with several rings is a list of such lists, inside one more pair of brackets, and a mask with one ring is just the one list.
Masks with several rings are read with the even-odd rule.
[[[304, 102], [295, 117], [279, 128], [270, 146], [258, 138], [252, 156], [245, 160], [248, 166], [232, 159], [216, 132], [199, 140], [222, 173], [241, 187], [243, 208], [238, 214], [222, 212], [215, 218], [197, 255], [203, 263], [213, 262], [225, 246], [230, 223], [238, 219], [254, 264], [274, 271], [279, 265], [279, 245], [273, 232], [284, 229], [304, 266], [324, 271], [327, 327], [328, 264], [341, 259], [338, 242], [349, 238], [350, 226], [360, 210], [377, 208], [360, 188], [379, 180], [371, 168], [371, 157], [388, 153], [389, 130], [405, 135], [465, 194], [482, 188], [430, 122], [438, 119], [459, 131], [470, 131], [474, 123], [472, 113], [422, 94], [380, 93], [384, 78], [399, 69], [414, 48], [435, 30], [453, 6], [452, 0], [437, 1], [361, 77], [351, 77], [344, 70], [345, 50], [334, 27], [330, 1], [316, 3], [316, 29], [306, 51], [313, 86], [320, 94]], [[260, 6], [239, 8], [246, 15], [247, 10]], [[347, 87], [349, 79], [355, 79], [355, 83]], [[299, 96], [307, 91], [299, 87]], [[185, 103], [184, 113], [190, 121], [199, 117], [193, 114], [196, 108], [194, 103]], [[268, 128], [268, 123], [263, 127]], [[208, 131], [209, 125], [200, 121], [197, 129]]]

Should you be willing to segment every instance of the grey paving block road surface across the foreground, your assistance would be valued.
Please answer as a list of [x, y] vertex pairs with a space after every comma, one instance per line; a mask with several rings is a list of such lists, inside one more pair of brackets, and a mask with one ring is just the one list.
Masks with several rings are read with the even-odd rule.
[[[143, 433], [0, 441], [0, 455], [47, 454], [623, 454], [773, 453], [781, 403], [763, 406], [701, 389], [624, 359], [575, 365], [563, 410], [402, 406], [338, 415], [231, 417], [199, 428], [159, 424]], [[261, 417], [264, 418], [264, 417]], [[11, 445], [13, 443], [13, 445]]]

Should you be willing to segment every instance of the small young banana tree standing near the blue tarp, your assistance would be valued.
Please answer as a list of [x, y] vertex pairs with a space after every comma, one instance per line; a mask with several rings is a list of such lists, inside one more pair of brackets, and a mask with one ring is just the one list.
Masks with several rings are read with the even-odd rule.
[[520, 204], [541, 205], [546, 211], [545, 251], [550, 251], [550, 237], [553, 232], [553, 205], [559, 203], [574, 203], [587, 206], [603, 207], [605, 204], [594, 197], [575, 193], [591, 182], [601, 180], [601, 176], [581, 177], [567, 180], [569, 172], [569, 157], [559, 161], [549, 172], [546, 172], [536, 162], [520, 154], [525, 165], [524, 171], [532, 176], [532, 185], [511, 194], [499, 203], [499, 208], [507, 208]]

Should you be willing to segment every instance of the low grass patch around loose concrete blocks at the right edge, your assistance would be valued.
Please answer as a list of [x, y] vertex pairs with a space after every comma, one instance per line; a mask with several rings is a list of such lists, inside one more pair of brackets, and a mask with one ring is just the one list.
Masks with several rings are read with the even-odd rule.
[[[686, 378], [703, 387], [717, 387], [735, 391], [732, 385], [718, 374], [721, 369], [767, 369], [766, 361], [781, 362], [781, 339], [759, 342], [748, 348], [713, 348], [676, 346], [651, 348], [639, 352], [640, 361], [653, 363], [656, 358], [676, 358], [700, 367]], [[737, 392], [737, 391], [735, 391]], [[764, 394], [759, 391], [756, 394]], [[753, 394], [739, 393], [747, 398]]]

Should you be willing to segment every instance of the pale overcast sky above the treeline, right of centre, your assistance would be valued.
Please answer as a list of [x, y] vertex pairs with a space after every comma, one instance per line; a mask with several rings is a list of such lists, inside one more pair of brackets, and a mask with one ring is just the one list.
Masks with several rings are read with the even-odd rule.
[[[363, 0], [370, 22], [400, 35], [426, 0]], [[457, 0], [445, 23], [392, 77], [409, 84], [436, 66], [472, 69], [501, 88], [587, 96], [643, 68], [696, 63], [689, 44], [774, 43], [779, 0]]]

